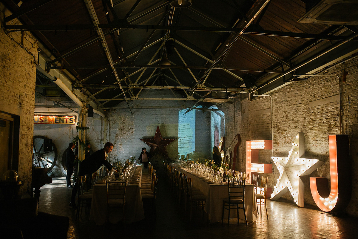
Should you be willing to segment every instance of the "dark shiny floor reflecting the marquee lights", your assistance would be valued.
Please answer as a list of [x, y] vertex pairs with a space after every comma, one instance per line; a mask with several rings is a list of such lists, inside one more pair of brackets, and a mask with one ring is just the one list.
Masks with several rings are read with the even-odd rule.
[[159, 180], [156, 220], [145, 208], [146, 218], [137, 223], [96, 226], [89, 221], [89, 210], [83, 211], [79, 220], [74, 220], [76, 212], [68, 205], [72, 188], [66, 187], [65, 177], [53, 178], [52, 184], [40, 190], [39, 211], [70, 218], [68, 238], [356, 238], [354, 228], [358, 223], [355, 218], [328, 216], [315, 209], [270, 200], [267, 205], [269, 219], [263, 212], [256, 223], [248, 226], [241, 220], [237, 225], [236, 219], [231, 219], [229, 226], [226, 223], [209, 225], [200, 213], [194, 213], [190, 222], [188, 212]]

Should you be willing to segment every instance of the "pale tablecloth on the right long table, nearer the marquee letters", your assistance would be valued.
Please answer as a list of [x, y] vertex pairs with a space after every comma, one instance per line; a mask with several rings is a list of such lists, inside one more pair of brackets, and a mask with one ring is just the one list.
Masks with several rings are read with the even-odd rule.
[[[192, 178], [193, 187], [200, 189], [200, 191], [202, 191], [204, 195], [207, 196], [205, 202], [205, 211], [208, 214], [210, 223], [221, 221], [223, 199], [228, 197], [227, 183], [223, 185], [208, 183], [194, 175], [194, 173], [190, 172], [187, 168], [181, 167], [175, 163], [171, 163], [170, 165], [182, 173], [185, 173], [187, 177]], [[253, 184], [251, 183], [245, 184], [245, 212], [248, 223], [253, 223], [256, 221], [256, 196]], [[227, 217], [228, 212], [225, 210], [224, 219], [227, 219]], [[237, 218], [236, 210], [230, 211], [230, 218]], [[243, 210], [239, 210], [239, 218], [245, 220]]]

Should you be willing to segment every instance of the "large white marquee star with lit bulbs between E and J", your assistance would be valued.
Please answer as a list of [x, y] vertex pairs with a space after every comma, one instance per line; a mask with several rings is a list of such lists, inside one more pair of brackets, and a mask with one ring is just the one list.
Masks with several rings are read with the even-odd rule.
[[305, 185], [300, 176], [309, 175], [323, 164], [318, 159], [301, 158], [304, 154], [305, 138], [304, 134], [299, 132], [287, 158], [272, 157], [280, 172], [280, 177], [271, 194], [272, 200], [277, 200], [290, 191], [297, 206], [303, 207]]

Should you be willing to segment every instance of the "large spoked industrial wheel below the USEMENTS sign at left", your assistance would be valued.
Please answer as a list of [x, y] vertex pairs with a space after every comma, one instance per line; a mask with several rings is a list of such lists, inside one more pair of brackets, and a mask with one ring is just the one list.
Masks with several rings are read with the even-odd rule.
[[47, 173], [55, 166], [57, 160], [57, 148], [52, 143], [51, 151], [44, 152], [44, 139], [49, 139], [45, 136], [36, 135], [34, 136], [33, 142], [33, 163], [37, 167], [48, 168]]

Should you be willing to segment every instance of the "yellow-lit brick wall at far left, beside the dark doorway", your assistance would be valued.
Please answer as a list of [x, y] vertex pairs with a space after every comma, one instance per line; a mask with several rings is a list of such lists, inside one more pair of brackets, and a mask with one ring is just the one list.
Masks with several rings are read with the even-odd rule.
[[[37, 42], [28, 32], [24, 33], [23, 45], [20, 32], [6, 35], [2, 22], [4, 14], [10, 15], [0, 4], [0, 110], [20, 116], [18, 173], [24, 181], [20, 194], [31, 193], [36, 66], [30, 53], [37, 55]], [[8, 24], [20, 23], [15, 19]]]

